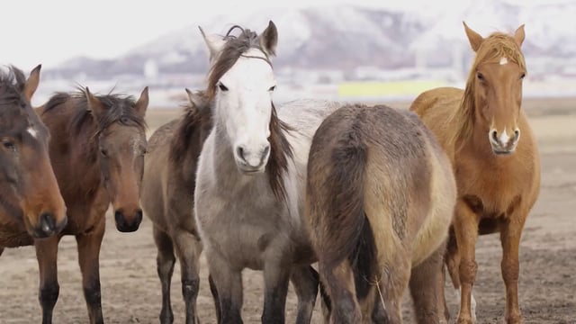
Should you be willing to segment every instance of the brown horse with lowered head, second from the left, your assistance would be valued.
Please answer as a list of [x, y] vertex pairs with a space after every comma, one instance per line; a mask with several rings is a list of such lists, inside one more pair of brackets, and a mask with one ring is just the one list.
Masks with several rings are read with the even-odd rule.
[[112, 205], [116, 229], [139, 228], [139, 184], [146, 153], [148, 87], [131, 95], [92, 94], [88, 87], [53, 94], [37, 108], [52, 137], [49, 156], [67, 205], [58, 236], [35, 242], [40, 267], [42, 322], [52, 322], [58, 300], [58, 241], [74, 235], [90, 323], [103, 323], [99, 255], [105, 213]]

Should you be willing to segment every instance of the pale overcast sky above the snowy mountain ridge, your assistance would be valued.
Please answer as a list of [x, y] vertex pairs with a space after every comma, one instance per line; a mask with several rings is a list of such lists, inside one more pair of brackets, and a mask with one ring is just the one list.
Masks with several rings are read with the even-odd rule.
[[[14, 0], [3, 4], [0, 12], [0, 66], [14, 64], [26, 71], [40, 63], [53, 67], [78, 55], [113, 58], [215, 14], [246, 14], [265, 6], [353, 3], [425, 9], [432, 4], [449, 8], [455, 1], [470, 0]], [[569, 0], [506, 1], [529, 5]]]

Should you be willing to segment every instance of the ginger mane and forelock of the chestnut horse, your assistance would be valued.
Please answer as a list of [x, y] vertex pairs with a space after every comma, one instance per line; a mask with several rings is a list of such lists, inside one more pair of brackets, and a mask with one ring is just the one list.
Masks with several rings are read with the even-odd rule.
[[470, 68], [464, 96], [458, 109], [449, 117], [449, 122], [455, 125], [455, 131], [449, 136], [447, 143], [449, 147], [458, 150], [457, 143], [464, 143], [470, 139], [474, 128], [475, 98], [474, 98], [474, 80], [476, 78], [476, 69], [479, 65], [485, 63], [497, 63], [500, 58], [506, 57], [509, 61], [518, 64], [519, 67], [526, 70], [526, 61], [524, 54], [514, 38], [506, 33], [497, 31], [482, 41], [482, 45], [476, 51], [476, 57], [473, 66]]

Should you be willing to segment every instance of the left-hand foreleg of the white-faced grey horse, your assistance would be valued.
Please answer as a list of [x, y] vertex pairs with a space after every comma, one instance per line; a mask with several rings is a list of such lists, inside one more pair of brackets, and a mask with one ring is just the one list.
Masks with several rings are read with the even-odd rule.
[[242, 273], [231, 269], [224, 257], [206, 252], [208, 269], [220, 305], [219, 324], [241, 324]]

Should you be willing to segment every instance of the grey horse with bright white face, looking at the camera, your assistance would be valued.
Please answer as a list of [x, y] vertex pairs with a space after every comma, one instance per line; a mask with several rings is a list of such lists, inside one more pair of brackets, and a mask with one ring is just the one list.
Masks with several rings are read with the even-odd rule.
[[313, 132], [338, 104], [296, 100], [276, 110], [271, 57], [278, 34], [271, 21], [259, 35], [233, 26], [224, 37], [202, 37], [213, 125], [197, 161], [193, 213], [217, 318], [242, 322], [241, 275], [250, 268], [263, 271], [262, 322], [284, 323], [292, 282], [296, 322], [308, 323], [319, 282], [302, 221], [306, 163]]

